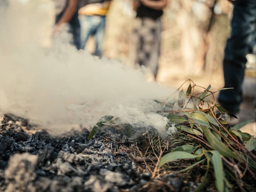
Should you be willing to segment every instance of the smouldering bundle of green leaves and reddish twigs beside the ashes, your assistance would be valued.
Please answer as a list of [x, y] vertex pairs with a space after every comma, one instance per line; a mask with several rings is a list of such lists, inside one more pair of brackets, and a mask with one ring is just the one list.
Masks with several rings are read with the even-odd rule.
[[[189, 84], [186, 92], [183, 89], [185, 83]], [[192, 80], [185, 83], [177, 90], [177, 98], [172, 98], [171, 102], [155, 101], [163, 107], [163, 110], [155, 113], [169, 119], [166, 130], [169, 126], [175, 126], [177, 133], [170, 135], [168, 140], [148, 133], [147, 137], [143, 137], [145, 149], [136, 147], [147, 169], [151, 171], [151, 177], [168, 171], [188, 173], [199, 167], [204, 171], [204, 176], [199, 179], [196, 191], [202, 191], [209, 177], [215, 178], [215, 189], [219, 192], [254, 191], [256, 140], [254, 136], [239, 130], [254, 120], [231, 127], [230, 117], [236, 117], [215, 102], [215, 92], [209, 90], [210, 85], [201, 87], [204, 91], [194, 94], [195, 87], [200, 86]], [[118, 117], [101, 118], [92, 129], [89, 139], [103, 125], [113, 123], [116, 119]], [[152, 169], [146, 160], [151, 161]]]

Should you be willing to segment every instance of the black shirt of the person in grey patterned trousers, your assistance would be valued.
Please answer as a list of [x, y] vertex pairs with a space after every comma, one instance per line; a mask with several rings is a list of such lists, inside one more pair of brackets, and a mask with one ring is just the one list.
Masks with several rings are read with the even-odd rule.
[[[158, 1], [158, 0], [154, 0], [154, 1]], [[140, 17], [140, 18], [149, 17], [149, 18], [157, 19], [157, 18], [161, 17], [162, 14], [163, 14], [162, 10], [152, 9], [152, 8], [146, 7], [142, 3], [140, 3], [140, 6], [137, 9], [136, 17]]]

